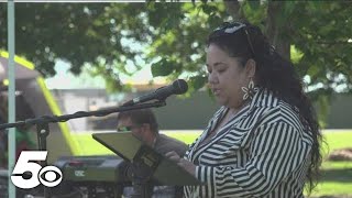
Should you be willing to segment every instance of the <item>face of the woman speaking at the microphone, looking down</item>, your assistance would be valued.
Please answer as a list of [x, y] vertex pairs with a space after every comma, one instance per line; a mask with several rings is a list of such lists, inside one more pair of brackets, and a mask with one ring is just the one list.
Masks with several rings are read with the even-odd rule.
[[215, 44], [210, 44], [207, 52], [208, 82], [217, 101], [229, 108], [239, 108], [243, 103], [249, 76], [237, 57]]

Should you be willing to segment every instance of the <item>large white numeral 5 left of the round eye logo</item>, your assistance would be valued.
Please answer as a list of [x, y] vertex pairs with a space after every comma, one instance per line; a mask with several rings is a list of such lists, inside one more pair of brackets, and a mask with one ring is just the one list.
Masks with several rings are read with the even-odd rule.
[[[15, 164], [11, 180], [14, 186], [19, 188], [34, 188], [40, 185], [38, 173], [42, 166], [37, 163], [30, 161], [45, 161], [47, 151], [23, 151]], [[24, 172], [32, 174], [31, 178], [23, 178]]]

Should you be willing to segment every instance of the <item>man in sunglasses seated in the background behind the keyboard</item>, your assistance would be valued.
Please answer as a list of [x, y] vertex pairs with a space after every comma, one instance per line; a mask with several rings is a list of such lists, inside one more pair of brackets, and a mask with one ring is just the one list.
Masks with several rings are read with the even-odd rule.
[[[161, 154], [166, 154], [167, 152], [175, 151], [177, 154], [183, 156], [188, 146], [173, 138], [165, 134], [158, 133], [158, 124], [156, 122], [155, 116], [151, 109], [141, 109], [132, 111], [123, 111], [118, 114], [118, 132], [131, 131], [135, 136], [138, 136], [145, 144], [153, 147]], [[179, 193], [175, 187], [156, 186], [150, 187], [150, 194], [153, 197], [176, 197]], [[135, 190], [131, 188], [125, 188], [124, 196], [130, 197], [135, 194]], [[152, 197], [148, 195], [148, 197]], [[178, 197], [178, 196], [177, 196]]]

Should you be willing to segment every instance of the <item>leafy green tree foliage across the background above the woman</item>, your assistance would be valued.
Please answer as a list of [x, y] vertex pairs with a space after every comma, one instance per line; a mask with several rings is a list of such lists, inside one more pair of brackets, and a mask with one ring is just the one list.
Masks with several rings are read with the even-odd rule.
[[[245, 19], [265, 30], [278, 52], [294, 61], [312, 99], [327, 105], [338, 89], [352, 90], [351, 7], [327, 1], [16, 3], [15, 51], [46, 76], [62, 58], [74, 74], [88, 64], [110, 89], [121, 89], [121, 74], [152, 65], [154, 76], [187, 78], [196, 90], [206, 82], [209, 30]], [[4, 48], [7, 12], [0, 9]]]

